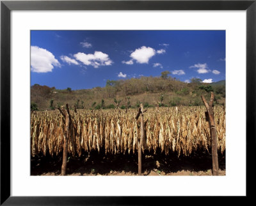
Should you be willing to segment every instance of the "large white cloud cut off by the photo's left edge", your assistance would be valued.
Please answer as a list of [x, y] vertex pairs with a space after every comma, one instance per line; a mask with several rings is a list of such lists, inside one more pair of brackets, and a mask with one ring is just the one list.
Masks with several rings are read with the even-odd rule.
[[46, 73], [52, 71], [54, 66], [61, 67], [51, 52], [44, 48], [31, 46], [31, 71]]

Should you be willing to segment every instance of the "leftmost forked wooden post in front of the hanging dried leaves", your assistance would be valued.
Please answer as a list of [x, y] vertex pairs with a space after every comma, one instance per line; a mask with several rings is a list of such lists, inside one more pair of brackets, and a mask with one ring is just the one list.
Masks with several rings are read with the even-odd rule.
[[67, 111], [63, 108], [58, 108], [60, 113], [65, 117], [65, 133], [64, 133], [64, 142], [63, 142], [63, 157], [62, 157], [62, 165], [61, 165], [61, 176], [66, 175], [67, 170], [67, 157], [68, 157], [68, 131], [69, 131], [69, 124], [70, 124], [70, 115], [69, 115], [69, 108], [68, 104], [66, 105]]

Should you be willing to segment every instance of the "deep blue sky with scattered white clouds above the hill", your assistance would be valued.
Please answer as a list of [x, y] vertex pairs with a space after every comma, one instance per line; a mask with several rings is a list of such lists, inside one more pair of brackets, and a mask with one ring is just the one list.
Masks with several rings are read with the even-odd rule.
[[31, 85], [90, 89], [166, 70], [225, 80], [225, 31], [31, 31]]

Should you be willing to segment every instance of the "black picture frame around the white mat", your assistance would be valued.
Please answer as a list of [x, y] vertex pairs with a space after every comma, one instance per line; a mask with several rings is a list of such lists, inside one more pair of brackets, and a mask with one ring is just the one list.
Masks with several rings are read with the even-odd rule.
[[[254, 197], [252, 186], [255, 183], [256, 175], [252, 172], [253, 166], [255, 165], [253, 156], [255, 155], [254, 151], [256, 145], [256, 0], [1, 1], [1, 205], [152, 205], [155, 202], [161, 205], [164, 203], [162, 201], [170, 201], [170, 197], [163, 196], [10, 196], [10, 12], [12, 10], [246, 10], [245, 198], [248, 200], [248, 198]], [[239, 98], [239, 96], [237, 96], [237, 98]], [[237, 108], [239, 108], [239, 105], [237, 105]], [[237, 163], [237, 167], [238, 166], [239, 163]], [[141, 189], [143, 189], [143, 186]], [[178, 201], [180, 201], [183, 197], [176, 198], [179, 198]], [[243, 199], [241, 201], [244, 201], [244, 198], [241, 199]]]

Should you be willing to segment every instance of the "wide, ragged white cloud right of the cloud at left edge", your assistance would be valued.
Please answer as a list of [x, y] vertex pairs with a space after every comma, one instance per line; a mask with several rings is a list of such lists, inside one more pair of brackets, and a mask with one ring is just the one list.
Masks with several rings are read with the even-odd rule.
[[109, 59], [108, 54], [97, 51], [95, 51], [94, 54], [78, 52], [77, 54], [74, 54], [74, 57], [83, 64], [87, 66], [91, 65], [94, 68], [99, 68], [99, 66], [109, 66], [113, 63], [113, 61]]

